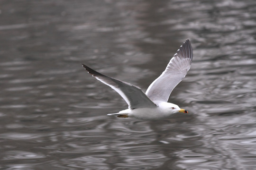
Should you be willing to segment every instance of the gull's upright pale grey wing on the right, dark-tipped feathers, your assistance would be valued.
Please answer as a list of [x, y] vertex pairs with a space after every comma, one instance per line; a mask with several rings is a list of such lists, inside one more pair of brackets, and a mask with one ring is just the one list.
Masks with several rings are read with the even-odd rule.
[[189, 40], [183, 43], [174, 54], [165, 71], [149, 85], [146, 95], [153, 102], [167, 102], [174, 87], [186, 76], [190, 69], [193, 57], [192, 46]]

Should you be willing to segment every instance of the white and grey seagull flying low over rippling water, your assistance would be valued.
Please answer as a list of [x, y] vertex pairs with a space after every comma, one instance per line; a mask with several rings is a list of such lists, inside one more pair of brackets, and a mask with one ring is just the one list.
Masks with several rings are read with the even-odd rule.
[[191, 67], [192, 58], [192, 46], [190, 41], [186, 40], [169, 61], [165, 71], [149, 85], [146, 93], [135, 85], [105, 76], [84, 64], [82, 67], [96, 79], [109, 85], [127, 102], [128, 109], [108, 115], [119, 118], [160, 120], [168, 119], [174, 113], [188, 113], [187, 110], [167, 101], [174, 87], [186, 76]]

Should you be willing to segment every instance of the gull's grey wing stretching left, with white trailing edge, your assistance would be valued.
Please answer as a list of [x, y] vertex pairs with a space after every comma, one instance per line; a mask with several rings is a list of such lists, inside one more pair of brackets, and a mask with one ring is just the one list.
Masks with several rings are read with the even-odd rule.
[[127, 82], [105, 76], [89, 68], [88, 66], [85, 66], [84, 64], [82, 64], [82, 67], [85, 68], [92, 76], [100, 80], [102, 83], [109, 85], [112, 89], [119, 93], [127, 102], [129, 109], [156, 107], [155, 103], [152, 102], [138, 87]]

